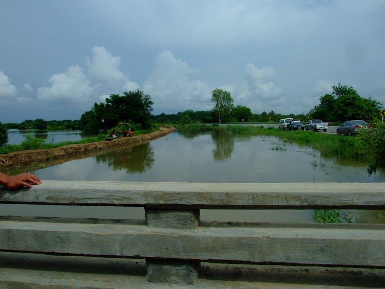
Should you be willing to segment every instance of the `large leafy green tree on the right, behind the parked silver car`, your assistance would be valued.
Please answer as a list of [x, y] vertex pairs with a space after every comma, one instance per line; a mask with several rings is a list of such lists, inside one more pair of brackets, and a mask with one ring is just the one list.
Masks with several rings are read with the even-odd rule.
[[332, 86], [333, 92], [320, 97], [320, 103], [310, 110], [313, 118], [328, 122], [346, 120], [378, 120], [381, 103], [361, 97], [352, 86]]

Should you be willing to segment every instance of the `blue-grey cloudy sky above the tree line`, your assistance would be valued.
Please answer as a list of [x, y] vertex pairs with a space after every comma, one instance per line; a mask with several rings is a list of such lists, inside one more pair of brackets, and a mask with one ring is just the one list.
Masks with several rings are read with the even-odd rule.
[[153, 114], [307, 113], [337, 83], [385, 106], [385, 0], [1, 0], [0, 122], [80, 119], [141, 89]]

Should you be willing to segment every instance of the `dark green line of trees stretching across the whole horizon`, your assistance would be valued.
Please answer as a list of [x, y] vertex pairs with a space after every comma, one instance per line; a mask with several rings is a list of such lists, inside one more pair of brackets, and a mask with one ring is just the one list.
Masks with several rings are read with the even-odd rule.
[[340, 83], [332, 86], [330, 94], [321, 96], [319, 104], [307, 114], [280, 114], [274, 110], [253, 113], [247, 106], [235, 106], [230, 92], [223, 89], [214, 89], [211, 92], [211, 102], [214, 103], [214, 107], [208, 111], [188, 109], [176, 114], [152, 115], [151, 96], [137, 89], [124, 91], [122, 95], [110, 94], [105, 103], [94, 103], [90, 110], [81, 115], [80, 120], [35, 119], [2, 126], [6, 129], [81, 129], [95, 134], [106, 132], [120, 122], [129, 122], [137, 129], [151, 129], [155, 123], [278, 122], [282, 118], [306, 121], [310, 117], [328, 122], [362, 119], [375, 123], [380, 120], [379, 110], [382, 106], [377, 100], [361, 97], [352, 86]]

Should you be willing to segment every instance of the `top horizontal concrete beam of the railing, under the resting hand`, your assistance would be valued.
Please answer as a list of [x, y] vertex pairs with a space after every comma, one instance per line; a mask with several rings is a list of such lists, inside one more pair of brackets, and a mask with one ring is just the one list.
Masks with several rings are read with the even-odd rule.
[[0, 203], [178, 209], [384, 209], [384, 183], [158, 183], [46, 181], [0, 187]]

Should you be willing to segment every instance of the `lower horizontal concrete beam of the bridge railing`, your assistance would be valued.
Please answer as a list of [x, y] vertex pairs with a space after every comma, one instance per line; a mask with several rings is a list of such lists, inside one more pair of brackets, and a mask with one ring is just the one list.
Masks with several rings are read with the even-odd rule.
[[129, 220], [3, 217], [0, 240], [0, 251], [385, 267], [383, 224], [207, 223], [172, 229]]

